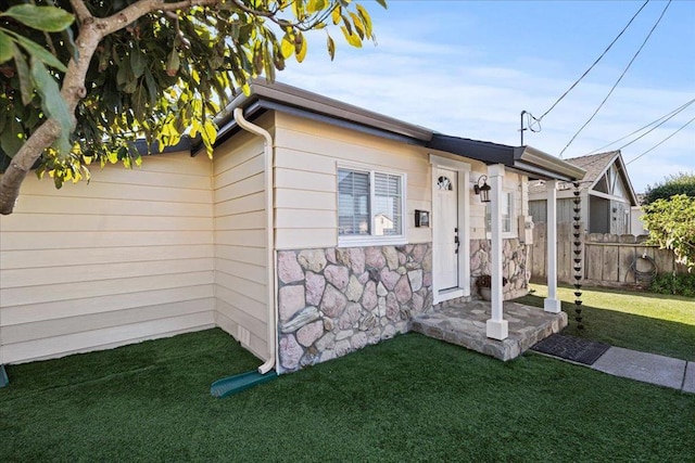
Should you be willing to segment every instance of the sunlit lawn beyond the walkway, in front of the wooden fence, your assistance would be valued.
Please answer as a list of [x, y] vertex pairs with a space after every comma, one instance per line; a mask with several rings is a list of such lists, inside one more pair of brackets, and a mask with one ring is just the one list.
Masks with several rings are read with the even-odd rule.
[[[532, 295], [517, 301], [543, 307], [547, 287], [532, 284], [531, 288]], [[695, 299], [595, 287], [581, 291], [584, 330], [577, 330], [574, 290], [558, 288], [569, 319], [564, 333], [695, 361]]]

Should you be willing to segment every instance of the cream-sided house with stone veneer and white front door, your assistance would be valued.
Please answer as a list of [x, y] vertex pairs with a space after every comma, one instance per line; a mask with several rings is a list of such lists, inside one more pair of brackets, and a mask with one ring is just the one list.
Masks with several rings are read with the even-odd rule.
[[227, 110], [213, 160], [189, 147], [94, 169], [90, 184], [26, 179], [0, 219], [0, 363], [212, 326], [263, 372], [323, 362], [473, 296], [478, 274], [525, 294], [529, 178], [584, 173], [280, 83]]

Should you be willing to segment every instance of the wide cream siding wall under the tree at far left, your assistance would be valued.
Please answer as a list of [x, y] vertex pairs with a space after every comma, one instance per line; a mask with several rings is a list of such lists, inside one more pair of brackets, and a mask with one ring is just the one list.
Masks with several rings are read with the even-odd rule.
[[188, 153], [30, 175], [0, 217], [0, 363], [212, 327], [211, 163]]

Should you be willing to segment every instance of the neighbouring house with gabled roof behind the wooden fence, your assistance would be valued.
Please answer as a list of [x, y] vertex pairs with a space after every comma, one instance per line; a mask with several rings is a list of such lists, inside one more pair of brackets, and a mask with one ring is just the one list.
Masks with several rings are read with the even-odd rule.
[[[589, 233], [633, 233], [631, 208], [639, 206], [640, 203], [628, 177], [620, 151], [574, 157], [567, 159], [567, 163], [586, 171], [584, 179], [580, 182], [581, 217], [584, 229]], [[533, 222], [547, 220], [545, 196], [544, 182], [531, 182], [529, 187], [529, 214], [533, 217]], [[573, 198], [574, 188], [572, 184], [558, 183], [558, 223], [573, 221]]]

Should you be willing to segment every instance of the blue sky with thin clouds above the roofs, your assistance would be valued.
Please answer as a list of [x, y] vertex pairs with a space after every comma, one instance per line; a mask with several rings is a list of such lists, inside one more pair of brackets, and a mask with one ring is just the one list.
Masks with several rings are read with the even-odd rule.
[[[278, 80], [459, 137], [518, 145], [522, 110], [539, 117], [626, 26], [643, 1], [364, 1], [377, 47], [325, 33]], [[619, 78], [667, 5], [652, 0], [598, 65], [525, 143], [559, 155]], [[673, 1], [602, 111], [563, 154], [589, 154], [695, 99], [695, 1]], [[695, 117], [695, 103], [622, 149], [640, 156]], [[640, 132], [642, 133], [642, 132]], [[618, 149], [640, 133], [606, 147]], [[695, 171], [695, 123], [628, 165], [636, 192]]]

